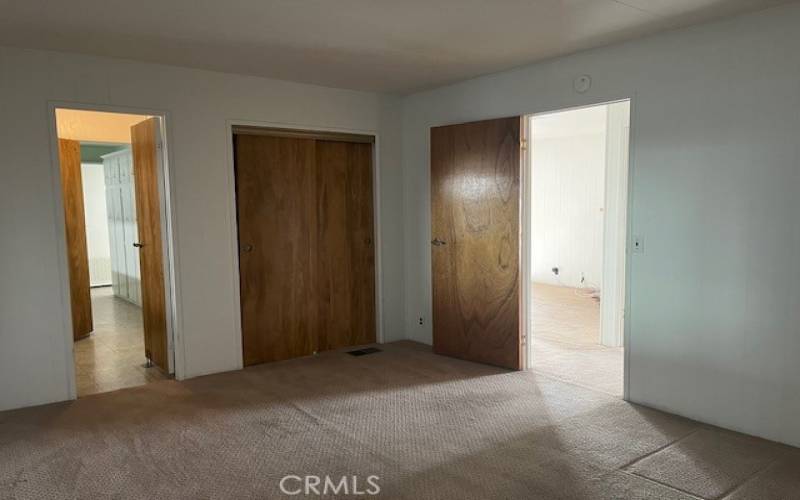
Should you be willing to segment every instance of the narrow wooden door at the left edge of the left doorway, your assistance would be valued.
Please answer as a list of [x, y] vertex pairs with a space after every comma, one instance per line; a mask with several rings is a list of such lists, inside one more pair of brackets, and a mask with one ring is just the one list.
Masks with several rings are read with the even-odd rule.
[[69, 298], [72, 338], [82, 339], [94, 329], [89, 287], [89, 255], [86, 249], [86, 216], [83, 207], [81, 146], [78, 141], [58, 140], [64, 222], [67, 234]]

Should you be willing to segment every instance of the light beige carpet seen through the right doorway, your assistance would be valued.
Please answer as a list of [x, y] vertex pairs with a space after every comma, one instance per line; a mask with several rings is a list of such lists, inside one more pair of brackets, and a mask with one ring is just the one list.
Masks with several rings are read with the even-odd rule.
[[621, 398], [621, 347], [600, 344], [600, 302], [585, 290], [533, 284], [533, 370]]

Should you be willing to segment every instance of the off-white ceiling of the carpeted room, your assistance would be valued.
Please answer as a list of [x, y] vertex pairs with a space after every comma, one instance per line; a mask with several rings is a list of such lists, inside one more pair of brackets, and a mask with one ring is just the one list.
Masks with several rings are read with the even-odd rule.
[[789, 0], [0, 0], [0, 45], [407, 93]]

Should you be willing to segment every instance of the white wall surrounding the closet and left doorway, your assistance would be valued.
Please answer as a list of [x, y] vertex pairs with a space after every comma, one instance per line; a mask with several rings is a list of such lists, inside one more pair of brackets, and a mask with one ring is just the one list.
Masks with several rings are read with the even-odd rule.
[[[0, 48], [0, 409], [68, 397], [48, 101], [163, 110], [174, 181], [186, 376], [234, 369], [235, 248], [226, 121], [380, 132], [384, 332], [403, 337], [395, 98], [119, 59]], [[139, 111], [139, 109], [133, 110]], [[180, 357], [179, 357], [180, 359]], [[181, 367], [179, 367], [181, 368]]]

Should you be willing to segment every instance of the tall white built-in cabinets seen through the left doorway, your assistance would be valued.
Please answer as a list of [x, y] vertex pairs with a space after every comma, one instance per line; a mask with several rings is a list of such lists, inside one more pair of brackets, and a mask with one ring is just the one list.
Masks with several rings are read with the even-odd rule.
[[111, 286], [114, 295], [142, 304], [139, 274], [139, 239], [136, 227], [136, 198], [133, 182], [133, 154], [123, 149], [103, 156], [108, 206], [108, 237], [111, 244]]

